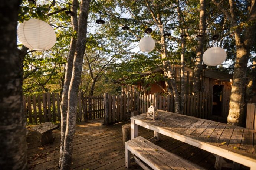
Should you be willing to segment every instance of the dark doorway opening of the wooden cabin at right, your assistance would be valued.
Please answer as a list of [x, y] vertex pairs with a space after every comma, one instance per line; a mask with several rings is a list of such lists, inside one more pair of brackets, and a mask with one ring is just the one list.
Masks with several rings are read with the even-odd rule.
[[222, 101], [223, 101], [223, 87], [224, 85], [213, 86], [213, 115], [222, 115]]

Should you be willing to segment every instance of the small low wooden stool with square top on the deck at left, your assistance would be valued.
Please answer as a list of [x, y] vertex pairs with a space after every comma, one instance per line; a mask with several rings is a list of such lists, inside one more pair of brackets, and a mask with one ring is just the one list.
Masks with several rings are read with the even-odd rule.
[[52, 137], [52, 131], [58, 129], [58, 125], [54, 125], [50, 122], [45, 122], [40, 125], [32, 127], [36, 132], [40, 133], [41, 136], [41, 145], [45, 145], [47, 143], [52, 143], [54, 141]]

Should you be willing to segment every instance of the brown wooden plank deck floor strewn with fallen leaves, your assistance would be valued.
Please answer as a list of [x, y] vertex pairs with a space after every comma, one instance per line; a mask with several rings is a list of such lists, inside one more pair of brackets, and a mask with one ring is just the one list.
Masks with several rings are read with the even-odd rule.
[[[124, 123], [111, 126], [101, 124], [102, 120], [100, 119], [91, 120], [87, 123], [77, 123], [72, 169], [126, 169], [125, 147], [122, 145], [122, 125]], [[29, 169], [58, 169], [60, 130], [53, 131], [55, 142], [46, 146], [40, 146], [40, 136], [32, 128], [28, 128], [28, 130]], [[138, 135], [149, 139], [153, 136], [153, 132], [145, 128], [139, 128]], [[206, 169], [214, 169], [215, 157], [209, 152], [162, 135], [160, 136], [160, 141], [154, 143]], [[241, 169], [244, 168], [241, 167]], [[140, 167], [133, 164], [131, 169], [140, 169]]]

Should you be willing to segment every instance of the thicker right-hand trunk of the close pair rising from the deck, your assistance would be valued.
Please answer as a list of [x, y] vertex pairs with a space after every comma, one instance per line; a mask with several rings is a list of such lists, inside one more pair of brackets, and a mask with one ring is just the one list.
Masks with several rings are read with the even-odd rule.
[[83, 54], [85, 52], [87, 19], [89, 12], [90, 0], [81, 0], [80, 13], [78, 19], [78, 35], [76, 43], [76, 54], [73, 62], [72, 78], [68, 92], [68, 112], [67, 125], [64, 139], [64, 153], [62, 158], [61, 169], [68, 170], [71, 166], [73, 152], [73, 137], [76, 127], [76, 113], [78, 102], [78, 88], [81, 81]]

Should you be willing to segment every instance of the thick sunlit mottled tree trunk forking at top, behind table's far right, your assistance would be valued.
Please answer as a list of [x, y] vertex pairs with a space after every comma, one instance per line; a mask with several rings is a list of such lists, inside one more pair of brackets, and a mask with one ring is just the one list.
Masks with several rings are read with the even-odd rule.
[[234, 1], [229, 0], [230, 13], [226, 11], [220, 3], [217, 3], [216, 0], [212, 0], [212, 2], [230, 21], [232, 21], [232, 27], [235, 28], [236, 62], [234, 67], [233, 83], [231, 86], [227, 123], [230, 125], [242, 125], [242, 118], [244, 117], [244, 94], [246, 87], [247, 63], [250, 50], [255, 40], [256, 4], [255, 0], [251, 0], [249, 4], [249, 13], [246, 19], [248, 26], [243, 28], [244, 30], [242, 35], [242, 28], [237, 22]]

